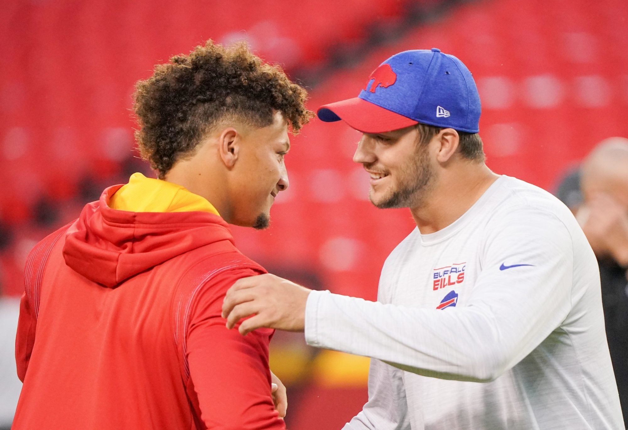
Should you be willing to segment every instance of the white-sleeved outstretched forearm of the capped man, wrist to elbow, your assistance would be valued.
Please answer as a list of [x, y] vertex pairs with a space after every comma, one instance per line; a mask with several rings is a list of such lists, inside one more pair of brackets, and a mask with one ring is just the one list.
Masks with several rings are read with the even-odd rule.
[[[378, 358], [409, 372], [443, 379], [494, 380], [558, 324], [531, 318], [521, 329], [509, 309], [495, 317], [481, 306], [439, 311], [327, 292], [310, 296], [305, 324], [309, 345]], [[556, 312], [554, 319], [558, 321], [562, 313]]]

